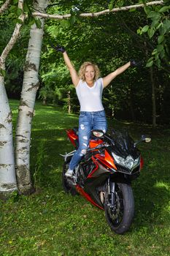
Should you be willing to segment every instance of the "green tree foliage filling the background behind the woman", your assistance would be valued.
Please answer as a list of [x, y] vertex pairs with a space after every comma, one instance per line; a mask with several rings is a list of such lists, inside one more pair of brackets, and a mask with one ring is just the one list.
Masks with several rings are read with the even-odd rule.
[[[146, 3], [146, 1], [142, 1]], [[98, 12], [133, 4], [131, 1], [61, 1], [49, 5], [47, 13], [64, 15], [71, 13], [68, 20], [45, 20], [45, 37], [42, 46], [40, 68], [41, 86], [39, 98], [44, 103], [62, 105], [64, 109], [71, 104], [72, 112], [79, 110], [72, 80], [64, 67], [63, 56], [50, 48], [64, 45], [75, 68], [78, 70], [83, 61], [93, 61], [101, 69], [101, 77], [114, 71], [129, 59], [142, 60], [144, 66], [154, 65], [157, 116], [160, 122], [169, 122], [169, 100], [166, 97], [169, 72], [169, 4], [144, 7], [133, 12], [115, 12], [98, 18], [80, 18], [81, 12]], [[111, 6], [112, 5], [112, 6]], [[166, 7], [166, 8], [165, 8]], [[12, 35], [16, 20], [8, 15], [18, 12], [17, 1], [12, 2], [10, 11], [1, 15], [0, 48], [4, 49]], [[17, 11], [18, 10], [18, 11]], [[33, 18], [32, 1], [24, 1], [24, 12], [28, 15], [17, 44], [7, 59], [6, 88], [10, 97], [20, 97], [23, 78], [23, 64], [28, 45], [29, 28], [40, 21]], [[18, 16], [15, 14], [15, 18]], [[139, 34], [136, 34], [138, 29]], [[20, 49], [20, 50], [18, 50]], [[155, 64], [157, 67], [155, 67]], [[163, 71], [163, 69], [165, 71]], [[104, 91], [104, 107], [107, 113], [116, 118], [128, 120], [152, 120], [151, 81], [149, 69], [140, 67], [128, 69], [113, 80], [111, 87]], [[70, 95], [68, 95], [70, 91]], [[70, 99], [69, 99], [70, 97]], [[149, 106], [148, 108], [146, 106]], [[162, 119], [163, 118], [163, 119]]]

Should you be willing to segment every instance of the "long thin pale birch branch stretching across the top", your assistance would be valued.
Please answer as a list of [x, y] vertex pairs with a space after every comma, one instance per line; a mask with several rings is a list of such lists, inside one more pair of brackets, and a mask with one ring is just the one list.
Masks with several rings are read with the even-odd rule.
[[[163, 0], [161, 1], [150, 1], [146, 4], [134, 4], [134, 5], [130, 5], [127, 7], [117, 7], [117, 8], [113, 8], [112, 10], [103, 10], [101, 12], [89, 12], [89, 13], [80, 13], [80, 17], [98, 17], [100, 15], [105, 15], [107, 13], [110, 12], [119, 12], [119, 11], [126, 11], [126, 10], [131, 10], [134, 8], [141, 8], [141, 7], [145, 7], [145, 6], [151, 6], [151, 5], [157, 5], [157, 4], [163, 4]], [[50, 14], [45, 14], [45, 13], [40, 13], [40, 12], [33, 12], [32, 13], [33, 16], [38, 16], [38, 17], [42, 17], [42, 18], [52, 18], [54, 20], [63, 20], [63, 19], [67, 19], [71, 17], [71, 14], [66, 14], [66, 15], [50, 15]]]

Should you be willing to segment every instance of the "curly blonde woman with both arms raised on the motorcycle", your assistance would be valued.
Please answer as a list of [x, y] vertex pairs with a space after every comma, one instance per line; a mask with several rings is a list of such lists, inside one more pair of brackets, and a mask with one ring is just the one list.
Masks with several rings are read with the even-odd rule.
[[66, 50], [62, 46], [55, 47], [55, 50], [63, 53], [63, 59], [69, 69], [72, 83], [77, 92], [77, 97], [80, 101], [80, 118], [79, 118], [79, 148], [75, 151], [69, 170], [66, 176], [72, 177], [74, 167], [80, 162], [80, 159], [85, 155], [88, 143], [90, 140], [90, 131], [92, 129], [101, 129], [107, 131], [107, 119], [104, 112], [104, 107], [101, 102], [102, 91], [109, 83], [120, 75], [128, 67], [136, 66], [136, 61], [128, 61], [122, 67], [119, 67], [114, 72], [104, 78], [99, 78], [99, 69], [96, 64], [85, 62], [80, 67], [77, 74]]

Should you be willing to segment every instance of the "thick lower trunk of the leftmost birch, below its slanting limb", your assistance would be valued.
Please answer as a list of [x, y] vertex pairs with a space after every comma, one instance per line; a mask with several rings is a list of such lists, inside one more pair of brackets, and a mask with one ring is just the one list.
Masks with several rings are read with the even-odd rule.
[[0, 102], [0, 192], [6, 194], [17, 189], [17, 182], [12, 139], [12, 113], [2, 75], [0, 75]]

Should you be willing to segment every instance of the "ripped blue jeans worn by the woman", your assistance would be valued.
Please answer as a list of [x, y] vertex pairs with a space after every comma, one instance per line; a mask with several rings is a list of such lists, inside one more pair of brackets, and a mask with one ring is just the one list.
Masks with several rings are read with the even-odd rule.
[[102, 129], [107, 131], [107, 118], [104, 110], [95, 112], [80, 112], [79, 118], [79, 148], [75, 151], [69, 169], [74, 170], [74, 167], [80, 162], [82, 156], [85, 155], [90, 140], [90, 132], [92, 129]]

